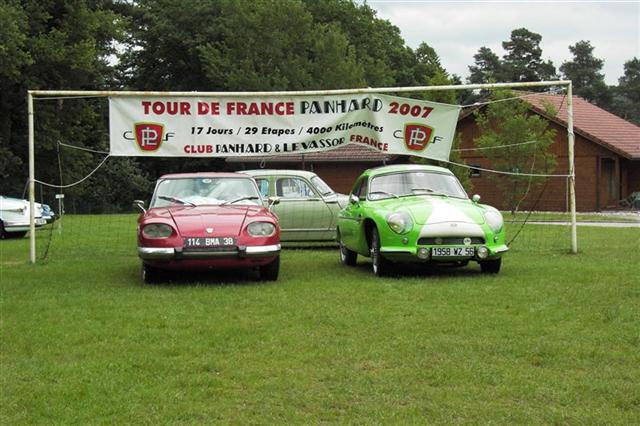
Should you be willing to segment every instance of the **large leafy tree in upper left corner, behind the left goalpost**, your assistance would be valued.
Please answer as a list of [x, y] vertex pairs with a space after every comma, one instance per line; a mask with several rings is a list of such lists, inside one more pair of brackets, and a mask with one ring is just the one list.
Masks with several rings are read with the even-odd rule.
[[[109, 56], [121, 37], [121, 19], [111, 2], [88, 0], [8, 1], [0, 4], [0, 192], [21, 195], [28, 178], [29, 89], [102, 89], [111, 79]], [[102, 111], [82, 101], [39, 100], [36, 110], [37, 178], [58, 181], [57, 142], [97, 148], [106, 134]], [[96, 135], [103, 135], [97, 138]], [[74, 155], [74, 154], [72, 154]], [[75, 154], [70, 181], [97, 163]]]

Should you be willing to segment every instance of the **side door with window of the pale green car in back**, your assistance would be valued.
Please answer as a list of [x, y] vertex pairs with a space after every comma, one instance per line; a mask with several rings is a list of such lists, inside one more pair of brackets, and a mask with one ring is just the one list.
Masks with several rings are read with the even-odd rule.
[[327, 239], [333, 215], [309, 181], [300, 176], [277, 176], [275, 195], [280, 197], [273, 210], [280, 219], [283, 241]]

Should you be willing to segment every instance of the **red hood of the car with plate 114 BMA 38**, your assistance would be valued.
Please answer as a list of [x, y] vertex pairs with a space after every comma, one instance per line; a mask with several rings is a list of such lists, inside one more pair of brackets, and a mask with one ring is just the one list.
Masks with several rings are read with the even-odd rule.
[[259, 206], [198, 206], [158, 210], [154, 214], [170, 216], [183, 237], [237, 236], [242, 232], [247, 217], [264, 213], [264, 208]]

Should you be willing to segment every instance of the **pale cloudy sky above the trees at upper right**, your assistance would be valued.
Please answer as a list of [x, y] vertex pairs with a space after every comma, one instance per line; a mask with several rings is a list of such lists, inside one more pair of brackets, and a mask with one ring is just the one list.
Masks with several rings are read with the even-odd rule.
[[[367, 0], [377, 16], [400, 29], [407, 46], [425, 42], [450, 74], [466, 80], [482, 46], [502, 57], [511, 31], [542, 36], [544, 60], [556, 67], [573, 58], [569, 46], [589, 40], [603, 59], [607, 84], [618, 84], [624, 63], [640, 58], [640, 0], [627, 1], [400, 1]], [[559, 72], [559, 70], [558, 70]]]

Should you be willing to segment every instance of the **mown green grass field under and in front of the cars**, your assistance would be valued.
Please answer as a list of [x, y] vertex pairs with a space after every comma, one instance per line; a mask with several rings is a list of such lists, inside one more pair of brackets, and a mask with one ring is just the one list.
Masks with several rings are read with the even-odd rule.
[[323, 248], [285, 250], [275, 283], [148, 286], [135, 224], [86, 220], [92, 238], [69, 226], [35, 266], [27, 239], [0, 241], [1, 424], [640, 418], [637, 228], [581, 227], [570, 255], [538, 226], [497, 276], [377, 279]]

